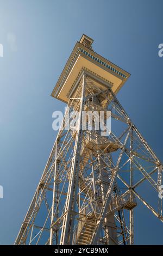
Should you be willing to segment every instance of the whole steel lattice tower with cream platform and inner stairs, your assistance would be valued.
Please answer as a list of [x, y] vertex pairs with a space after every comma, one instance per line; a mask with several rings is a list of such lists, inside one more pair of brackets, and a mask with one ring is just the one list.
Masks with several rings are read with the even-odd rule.
[[161, 162], [115, 96], [130, 74], [92, 42], [77, 42], [52, 92], [67, 110], [15, 245], [132, 245], [139, 205], [163, 221]]

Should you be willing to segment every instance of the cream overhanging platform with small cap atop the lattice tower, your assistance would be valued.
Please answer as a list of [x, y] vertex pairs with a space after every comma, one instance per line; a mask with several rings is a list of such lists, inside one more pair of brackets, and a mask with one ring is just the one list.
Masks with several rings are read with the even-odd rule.
[[53, 97], [67, 103], [84, 73], [90, 76], [97, 86], [111, 87], [115, 94], [127, 81], [130, 74], [93, 51], [92, 43], [93, 39], [85, 34], [76, 43], [53, 89]]

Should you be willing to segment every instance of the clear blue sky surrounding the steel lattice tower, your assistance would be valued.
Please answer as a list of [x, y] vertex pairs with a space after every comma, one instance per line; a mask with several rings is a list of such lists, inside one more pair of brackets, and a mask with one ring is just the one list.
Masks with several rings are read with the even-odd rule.
[[[94, 50], [130, 72], [117, 97], [158, 157], [162, 154], [162, 0], [0, 0], [0, 244], [13, 244], [57, 135], [51, 92], [83, 33]], [[146, 209], [135, 244], [162, 244]]]

